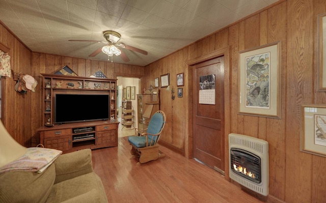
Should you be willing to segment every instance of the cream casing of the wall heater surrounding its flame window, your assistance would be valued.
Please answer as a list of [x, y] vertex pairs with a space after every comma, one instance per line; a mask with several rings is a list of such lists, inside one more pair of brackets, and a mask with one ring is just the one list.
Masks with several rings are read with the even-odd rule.
[[[260, 162], [260, 181], [255, 182], [248, 178], [244, 178], [235, 173], [231, 168], [231, 149], [241, 149], [248, 151], [255, 156], [258, 156]], [[244, 187], [247, 187], [259, 194], [268, 195], [269, 185], [269, 166], [268, 166], [268, 143], [264, 140], [253, 138], [250, 136], [244, 136], [243, 134], [230, 133], [229, 134], [229, 174], [230, 178]]]

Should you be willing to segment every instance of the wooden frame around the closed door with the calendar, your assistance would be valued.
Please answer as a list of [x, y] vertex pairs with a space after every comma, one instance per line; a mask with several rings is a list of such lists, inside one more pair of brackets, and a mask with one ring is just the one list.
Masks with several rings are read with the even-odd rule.
[[185, 114], [186, 127], [185, 127], [185, 140], [184, 140], [184, 152], [185, 157], [193, 158], [193, 65], [211, 60], [214, 58], [218, 58], [220, 56], [224, 56], [224, 162], [225, 162], [225, 178], [229, 178], [229, 142], [228, 142], [228, 134], [230, 133], [230, 47], [225, 47], [223, 49], [219, 49], [210, 53], [207, 53], [203, 56], [186, 60], [185, 61], [185, 75], [188, 88], [186, 88], [185, 100], [188, 101], [185, 105], [185, 109], [187, 110]]

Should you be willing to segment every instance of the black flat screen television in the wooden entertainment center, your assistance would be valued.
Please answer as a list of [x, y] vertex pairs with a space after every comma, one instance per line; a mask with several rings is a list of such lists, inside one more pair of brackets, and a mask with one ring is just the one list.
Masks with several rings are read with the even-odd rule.
[[56, 94], [55, 123], [73, 123], [110, 118], [108, 94]]

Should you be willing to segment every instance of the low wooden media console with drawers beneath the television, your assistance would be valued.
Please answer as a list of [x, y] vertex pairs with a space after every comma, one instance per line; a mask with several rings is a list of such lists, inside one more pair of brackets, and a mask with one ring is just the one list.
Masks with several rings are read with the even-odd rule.
[[[45, 148], [58, 149], [68, 153], [80, 149], [97, 149], [118, 146], [117, 121], [90, 121], [59, 124], [38, 129], [41, 144]], [[76, 132], [76, 129], [82, 129]], [[89, 129], [85, 130], [84, 129]]]

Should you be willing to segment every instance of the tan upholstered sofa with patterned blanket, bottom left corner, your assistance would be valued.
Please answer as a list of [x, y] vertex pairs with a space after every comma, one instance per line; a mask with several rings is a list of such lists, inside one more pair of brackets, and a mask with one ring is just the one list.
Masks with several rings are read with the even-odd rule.
[[[29, 151], [36, 156], [26, 158]], [[23, 160], [42, 162], [44, 158], [38, 157], [44, 151], [57, 154], [41, 170], [27, 164], [13, 167]], [[0, 202], [107, 202], [103, 184], [93, 171], [92, 151], [61, 153], [19, 145], [0, 122]]]

